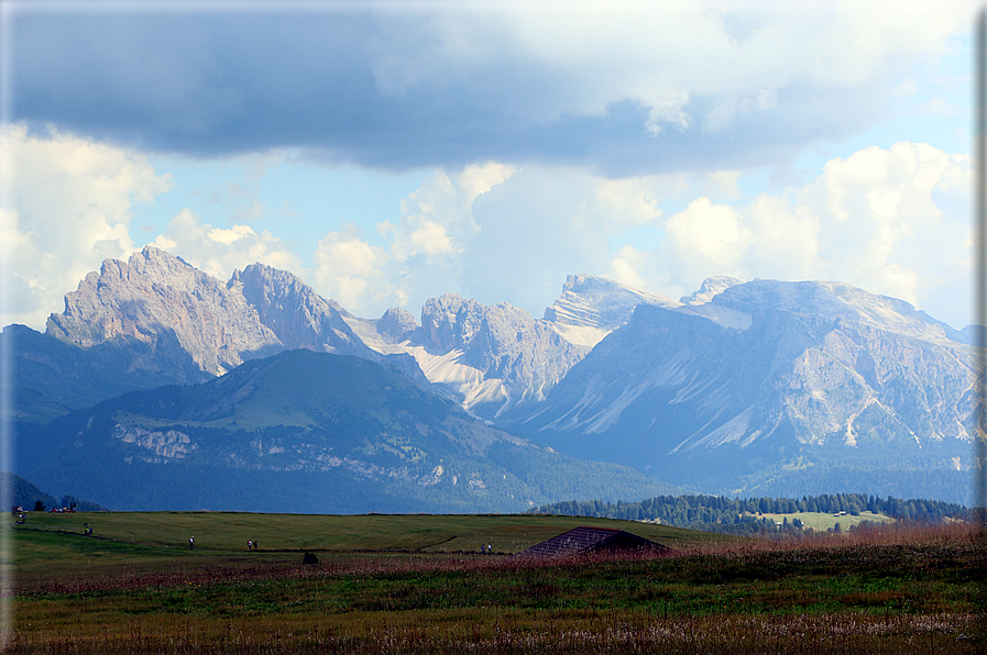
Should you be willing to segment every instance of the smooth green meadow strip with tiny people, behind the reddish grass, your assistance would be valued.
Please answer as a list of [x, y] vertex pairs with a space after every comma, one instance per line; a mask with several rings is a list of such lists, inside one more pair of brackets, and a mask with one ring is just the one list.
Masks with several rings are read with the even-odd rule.
[[[312, 515], [223, 512], [32, 512], [14, 531], [21, 589], [73, 588], [85, 580], [182, 567], [206, 570], [255, 563], [296, 563], [301, 553], [394, 558], [480, 553], [513, 555], [579, 525], [632, 530], [677, 551], [736, 537], [610, 519], [547, 515]], [[84, 528], [92, 528], [85, 536]], [[189, 536], [195, 548], [188, 547]], [[255, 541], [256, 551], [246, 551]]]

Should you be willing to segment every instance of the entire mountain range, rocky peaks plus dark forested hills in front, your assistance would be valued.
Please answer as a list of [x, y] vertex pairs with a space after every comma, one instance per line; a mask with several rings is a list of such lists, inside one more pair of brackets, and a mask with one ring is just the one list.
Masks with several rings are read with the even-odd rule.
[[[369, 506], [376, 511], [467, 511], [471, 503], [483, 511], [513, 511], [525, 502], [644, 498], [658, 488], [672, 489], [669, 485], [730, 495], [969, 498], [973, 363], [979, 354], [967, 343], [968, 330], [956, 331], [904, 301], [836, 282], [719, 277], [677, 301], [573, 275], [541, 319], [506, 302], [484, 306], [453, 293], [427, 301], [420, 320], [403, 309], [362, 319], [290, 273], [254, 264], [221, 282], [149, 246], [128, 262], [107, 260], [99, 273], [89, 274], [66, 295], [64, 311], [52, 314], [43, 334], [24, 326], [8, 326], [4, 333], [12, 337], [4, 338], [4, 347], [14, 342], [14, 420], [24, 435], [21, 443], [31, 444], [22, 445], [17, 473], [57, 489], [73, 463], [91, 467], [99, 457], [113, 459], [117, 473], [106, 475], [114, 480], [113, 496], [129, 499], [127, 507], [152, 507], [150, 480], [164, 485], [179, 470], [191, 480], [188, 489], [198, 488], [194, 480], [206, 470], [211, 471], [207, 477], [222, 471], [243, 480], [295, 475], [308, 481], [271, 481], [268, 487], [289, 489], [277, 502], [298, 499], [297, 511], [316, 511], [310, 495], [316, 492], [306, 492], [306, 485], [360, 489], [340, 497], [348, 500], [331, 504], [333, 511]], [[396, 393], [394, 380], [403, 380], [403, 409], [347, 406], [343, 413], [360, 417], [363, 441], [359, 447], [338, 442], [342, 437], [332, 432], [336, 423], [328, 417], [337, 415], [332, 408], [341, 407], [342, 389], [318, 380], [357, 374], [341, 364], [322, 364], [320, 373], [299, 376], [306, 381], [298, 387], [285, 373], [308, 366], [289, 355], [296, 351], [373, 365], [382, 373], [360, 378], [376, 380], [359, 387], [369, 397]], [[254, 370], [261, 362], [277, 363], [277, 384], [294, 389], [278, 395], [277, 402], [266, 400], [263, 411], [256, 410], [254, 396], [233, 384], [246, 375], [241, 369]], [[384, 375], [397, 377], [385, 384]], [[311, 396], [308, 387], [320, 389], [312, 397], [323, 403], [318, 411], [315, 400], [301, 409], [293, 404]], [[162, 393], [208, 397], [210, 407], [232, 413], [202, 414], [202, 407], [182, 401], [188, 413], [158, 415], [141, 404], [160, 404]], [[248, 398], [254, 400], [243, 404]], [[451, 419], [441, 418], [446, 410], [436, 410], [436, 403], [451, 408], [448, 415], [458, 417], [457, 424], [468, 422], [497, 444], [495, 451], [511, 455], [494, 462], [489, 448], [450, 451], [450, 444], [470, 440], [449, 436], [443, 421]], [[248, 406], [263, 420], [244, 426], [243, 419], [230, 419]], [[432, 436], [415, 426], [428, 422], [401, 418], [412, 408], [437, 421], [426, 431]], [[125, 418], [131, 415], [139, 418]], [[307, 419], [285, 419], [300, 415]], [[79, 421], [102, 425], [102, 432], [80, 431]], [[127, 432], [128, 425], [144, 436]], [[176, 425], [206, 432], [196, 432], [196, 441]], [[289, 438], [279, 430], [301, 432]], [[182, 457], [157, 453], [155, 444], [165, 443], [161, 435], [169, 431], [189, 440], [174, 443], [196, 443], [197, 448]], [[119, 436], [124, 433], [133, 438]], [[303, 433], [321, 436], [306, 441]], [[287, 440], [271, 446], [285, 452], [251, 459], [252, 446], [245, 444], [266, 444], [271, 434]], [[447, 436], [436, 441], [437, 434]], [[427, 455], [414, 466], [394, 460], [398, 446], [388, 438]], [[285, 454], [292, 452], [294, 459]], [[568, 458], [559, 468], [557, 458], [563, 455]], [[127, 457], [130, 464], [120, 465]], [[362, 464], [322, 469], [315, 464], [319, 457]], [[275, 460], [284, 462], [268, 466]], [[437, 495], [440, 486], [419, 485], [436, 466], [456, 469], [449, 475], [457, 480], [471, 479], [468, 469], [482, 468], [485, 496], [458, 495], [459, 489]], [[590, 466], [595, 473], [586, 480], [603, 486], [579, 488], [552, 479], [578, 466]], [[134, 477], [138, 469], [143, 473]], [[364, 475], [371, 469], [391, 473]], [[496, 476], [503, 485], [490, 482]], [[607, 477], [608, 486], [602, 482]], [[74, 492], [119, 507], [99, 492], [100, 485], [111, 485], [109, 479], [87, 485], [73, 487]], [[124, 493], [142, 485], [149, 490]], [[200, 489], [189, 492], [183, 507], [221, 496]], [[371, 500], [361, 504], [359, 498]], [[235, 504], [248, 506], [245, 500]]]

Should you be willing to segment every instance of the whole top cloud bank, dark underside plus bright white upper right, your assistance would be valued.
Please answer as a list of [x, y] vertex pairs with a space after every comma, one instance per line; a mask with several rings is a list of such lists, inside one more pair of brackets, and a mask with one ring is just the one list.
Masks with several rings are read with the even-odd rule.
[[196, 155], [714, 170], [869, 126], [973, 14], [966, 1], [24, 5], [13, 111]]

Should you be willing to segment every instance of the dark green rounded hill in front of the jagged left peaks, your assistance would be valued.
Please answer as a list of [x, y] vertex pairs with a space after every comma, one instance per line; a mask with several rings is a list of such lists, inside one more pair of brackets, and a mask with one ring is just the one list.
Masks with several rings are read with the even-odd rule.
[[46, 488], [121, 510], [519, 511], [672, 491], [474, 421], [366, 359], [310, 351], [74, 412], [19, 460]]

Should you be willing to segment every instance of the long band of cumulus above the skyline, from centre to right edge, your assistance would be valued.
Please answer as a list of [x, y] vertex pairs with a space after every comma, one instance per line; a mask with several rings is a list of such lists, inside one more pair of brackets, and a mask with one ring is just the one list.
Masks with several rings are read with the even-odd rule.
[[[714, 275], [825, 279], [902, 298], [962, 328], [969, 175], [967, 156], [908, 142], [834, 158], [808, 184], [754, 198], [739, 192], [735, 171], [612, 180], [529, 166], [479, 195], [453, 181], [468, 176], [438, 171], [406, 199], [401, 226], [379, 226], [390, 249], [354, 231], [332, 235], [335, 247], [364, 255], [323, 266], [321, 279], [333, 293], [350, 289], [357, 313], [373, 306], [364, 315], [385, 307], [374, 302], [416, 311], [447, 291], [540, 315], [572, 273], [673, 298]], [[431, 224], [443, 227], [423, 241], [432, 245], [415, 246]]]

